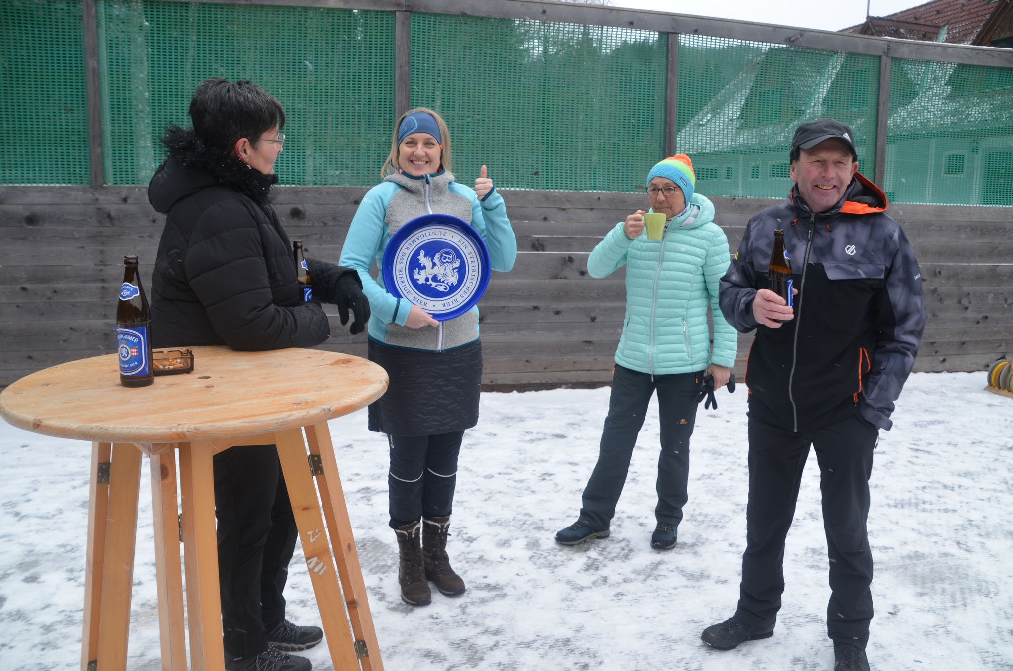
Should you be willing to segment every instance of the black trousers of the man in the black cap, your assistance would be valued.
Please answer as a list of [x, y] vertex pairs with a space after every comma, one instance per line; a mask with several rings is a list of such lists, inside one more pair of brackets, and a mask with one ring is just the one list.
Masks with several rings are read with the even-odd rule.
[[784, 541], [811, 445], [820, 464], [830, 557], [827, 635], [864, 648], [872, 619], [872, 553], [865, 522], [877, 429], [855, 415], [796, 434], [751, 417], [749, 432], [747, 545], [735, 615], [752, 627], [774, 625], [784, 592]]

